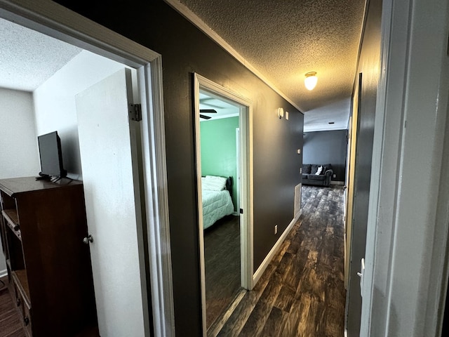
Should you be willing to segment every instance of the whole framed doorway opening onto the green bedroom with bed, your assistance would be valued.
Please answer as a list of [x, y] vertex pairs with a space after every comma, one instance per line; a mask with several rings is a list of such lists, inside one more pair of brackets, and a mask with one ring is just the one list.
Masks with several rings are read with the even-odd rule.
[[251, 102], [194, 74], [203, 331], [253, 287]]

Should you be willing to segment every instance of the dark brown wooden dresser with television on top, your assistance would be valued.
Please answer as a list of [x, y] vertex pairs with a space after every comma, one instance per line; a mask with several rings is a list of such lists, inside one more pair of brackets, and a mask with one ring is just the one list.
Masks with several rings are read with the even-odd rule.
[[1, 243], [28, 336], [77, 336], [97, 325], [83, 185], [0, 180]]

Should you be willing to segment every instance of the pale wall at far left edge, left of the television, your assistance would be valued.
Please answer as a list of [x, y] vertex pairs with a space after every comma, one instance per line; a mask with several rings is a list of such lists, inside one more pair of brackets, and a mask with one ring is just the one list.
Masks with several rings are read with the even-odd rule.
[[[32, 93], [0, 88], [0, 179], [37, 176], [40, 170]], [[6, 260], [0, 242], [0, 277]]]

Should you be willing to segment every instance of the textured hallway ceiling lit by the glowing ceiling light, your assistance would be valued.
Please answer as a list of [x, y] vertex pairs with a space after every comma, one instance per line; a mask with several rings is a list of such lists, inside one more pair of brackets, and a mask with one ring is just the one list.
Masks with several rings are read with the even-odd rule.
[[[365, 0], [168, 0], [173, 1], [279, 88], [306, 121], [307, 112], [324, 110], [328, 118], [326, 106], [351, 97]], [[308, 91], [304, 74], [311, 71], [319, 80]], [[334, 119], [344, 114], [347, 124], [348, 110], [335, 111]]]

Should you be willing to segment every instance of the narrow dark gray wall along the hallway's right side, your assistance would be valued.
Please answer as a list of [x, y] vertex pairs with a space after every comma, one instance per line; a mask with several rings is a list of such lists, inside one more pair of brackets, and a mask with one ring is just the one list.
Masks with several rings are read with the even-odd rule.
[[[361, 318], [360, 270], [361, 258], [365, 256], [368, 200], [370, 193], [371, 161], [373, 154], [374, 119], [377, 84], [380, 74], [380, 22], [382, 0], [370, 0], [368, 16], [358, 59], [361, 74], [356, 162], [354, 177], [354, 204], [347, 296], [348, 336], [359, 336]], [[357, 76], [356, 81], [358, 81]]]

